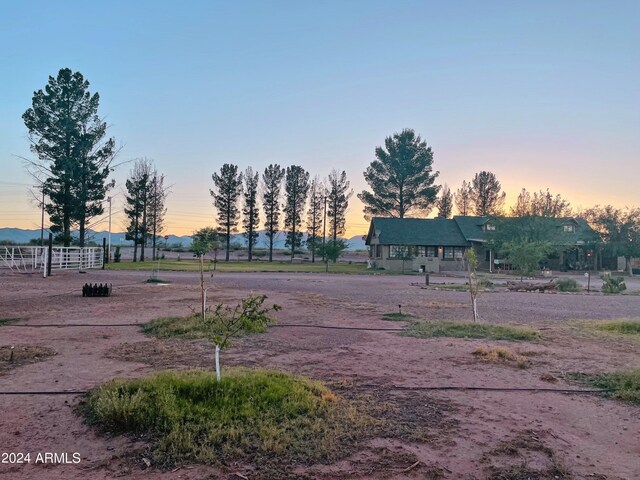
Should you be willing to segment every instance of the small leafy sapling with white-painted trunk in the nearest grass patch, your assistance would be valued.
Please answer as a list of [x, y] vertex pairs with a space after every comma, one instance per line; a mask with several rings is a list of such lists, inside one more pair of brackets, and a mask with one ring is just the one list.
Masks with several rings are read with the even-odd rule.
[[207, 336], [216, 346], [216, 379], [220, 381], [220, 350], [231, 344], [231, 339], [242, 333], [260, 333], [275, 322], [269, 316], [277, 312], [280, 305], [263, 307], [266, 295], [251, 295], [234, 308], [218, 304], [209, 315], [204, 317]]

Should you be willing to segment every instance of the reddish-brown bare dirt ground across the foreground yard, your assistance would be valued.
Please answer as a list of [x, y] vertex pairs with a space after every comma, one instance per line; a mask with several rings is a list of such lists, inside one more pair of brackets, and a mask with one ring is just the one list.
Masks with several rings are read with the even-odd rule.
[[[169, 285], [150, 285], [144, 272], [89, 271], [36, 275], [0, 272], [0, 349], [43, 347], [54, 354], [0, 372], [0, 454], [31, 453], [31, 464], [0, 463], [7, 479], [251, 478], [259, 466], [147, 468], [145, 444], [108, 437], [83, 424], [79, 394], [6, 392], [84, 391], [114, 377], [213, 364], [205, 342], [161, 342], [135, 326], [198, 305], [195, 273], [162, 273]], [[431, 277], [432, 282], [446, 279]], [[468, 293], [412, 286], [415, 277], [323, 274], [216, 274], [209, 299], [235, 302], [265, 293], [283, 306], [280, 324], [398, 328], [382, 320], [395, 312], [426, 319], [470, 319]], [[85, 282], [113, 283], [110, 298], [82, 298]], [[275, 327], [223, 352], [231, 365], [277, 368], [349, 388], [374, 388], [404, 398], [405, 414], [425, 421], [429, 441], [379, 438], [333, 465], [296, 467], [305, 478], [640, 478], [640, 408], [598, 395], [556, 392], [394, 390], [394, 387], [476, 386], [583, 388], [567, 372], [640, 368], [640, 343], [597, 336], [575, 320], [635, 317], [640, 296], [491, 292], [479, 300], [482, 319], [529, 324], [538, 342], [416, 339], [397, 332]], [[25, 328], [20, 325], [107, 324]], [[479, 347], [507, 346], [529, 358], [518, 369], [483, 361]], [[1, 351], [1, 350], [0, 350]], [[391, 393], [389, 393], [391, 392]], [[338, 393], [342, 393], [338, 389]], [[68, 453], [67, 464], [34, 464], [37, 453]], [[73, 453], [80, 462], [72, 462]], [[2, 458], [0, 458], [0, 461]], [[561, 466], [562, 470], [556, 470]], [[516, 472], [506, 476], [505, 472]], [[524, 473], [523, 473], [524, 472]], [[560, 472], [560, 473], [558, 473]], [[499, 475], [503, 476], [499, 476]], [[565, 475], [565, 476], [559, 476]], [[570, 475], [570, 476], [569, 476]], [[244, 476], [244, 477], [243, 477]]]

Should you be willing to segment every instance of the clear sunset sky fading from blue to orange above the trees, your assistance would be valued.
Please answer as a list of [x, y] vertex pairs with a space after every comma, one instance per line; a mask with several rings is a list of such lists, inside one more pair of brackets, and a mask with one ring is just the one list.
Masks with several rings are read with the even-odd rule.
[[[214, 224], [223, 163], [344, 169], [357, 193], [403, 128], [452, 190], [490, 170], [510, 203], [526, 187], [640, 206], [637, 0], [5, 2], [0, 44], [0, 227], [40, 226], [21, 116], [63, 67], [100, 93], [117, 161], [152, 158], [172, 184], [172, 234]], [[355, 195], [347, 227], [366, 232]]]

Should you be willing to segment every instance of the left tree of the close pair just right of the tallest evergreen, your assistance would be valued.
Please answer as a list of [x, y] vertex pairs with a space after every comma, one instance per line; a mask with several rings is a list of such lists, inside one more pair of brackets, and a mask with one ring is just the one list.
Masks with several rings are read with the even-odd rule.
[[134, 163], [131, 174], [125, 186], [124, 213], [129, 218], [126, 239], [133, 241], [133, 261], [138, 261], [138, 246], [140, 246], [140, 261], [144, 262], [144, 246], [149, 235], [147, 222], [147, 208], [151, 192], [151, 162], [139, 159]]

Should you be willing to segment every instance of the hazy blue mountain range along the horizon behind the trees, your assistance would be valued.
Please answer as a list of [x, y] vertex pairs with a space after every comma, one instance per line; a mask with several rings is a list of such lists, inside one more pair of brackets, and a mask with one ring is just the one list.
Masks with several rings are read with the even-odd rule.
[[[48, 232], [45, 231], [45, 238], [48, 238]], [[78, 232], [72, 232], [74, 237], [78, 236]], [[98, 245], [102, 244], [102, 239], [109, 237], [108, 232], [96, 232], [93, 230], [87, 230], [87, 241], [96, 242]], [[279, 232], [274, 241], [274, 248], [284, 249], [285, 242], [285, 233]], [[8, 240], [11, 242], [15, 242], [17, 244], [27, 244], [30, 240], [39, 240], [40, 239], [40, 229], [37, 230], [25, 230], [22, 228], [0, 228], [0, 241]], [[306, 234], [303, 236], [303, 240], [306, 241]], [[365, 250], [366, 246], [364, 244], [364, 239], [362, 235], [356, 235], [351, 238], [345, 239], [349, 245], [348, 250]], [[189, 235], [177, 236], [177, 235], [169, 235], [169, 238], [165, 241], [164, 237], [159, 237], [158, 241], [160, 242], [160, 246], [164, 246], [165, 244], [168, 247], [177, 247], [181, 245], [182, 247], [189, 247], [192, 242], [192, 238]], [[242, 246], [247, 245], [247, 240], [242, 236], [242, 234], [234, 234], [231, 236], [231, 241], [235, 243], [239, 243]], [[111, 232], [111, 245], [122, 245], [122, 246], [133, 246], [133, 243], [130, 240], [126, 240], [124, 232]], [[258, 243], [256, 244], [257, 248], [265, 248], [269, 246], [269, 238], [265, 235], [265, 231], [261, 230], [258, 232]]]

